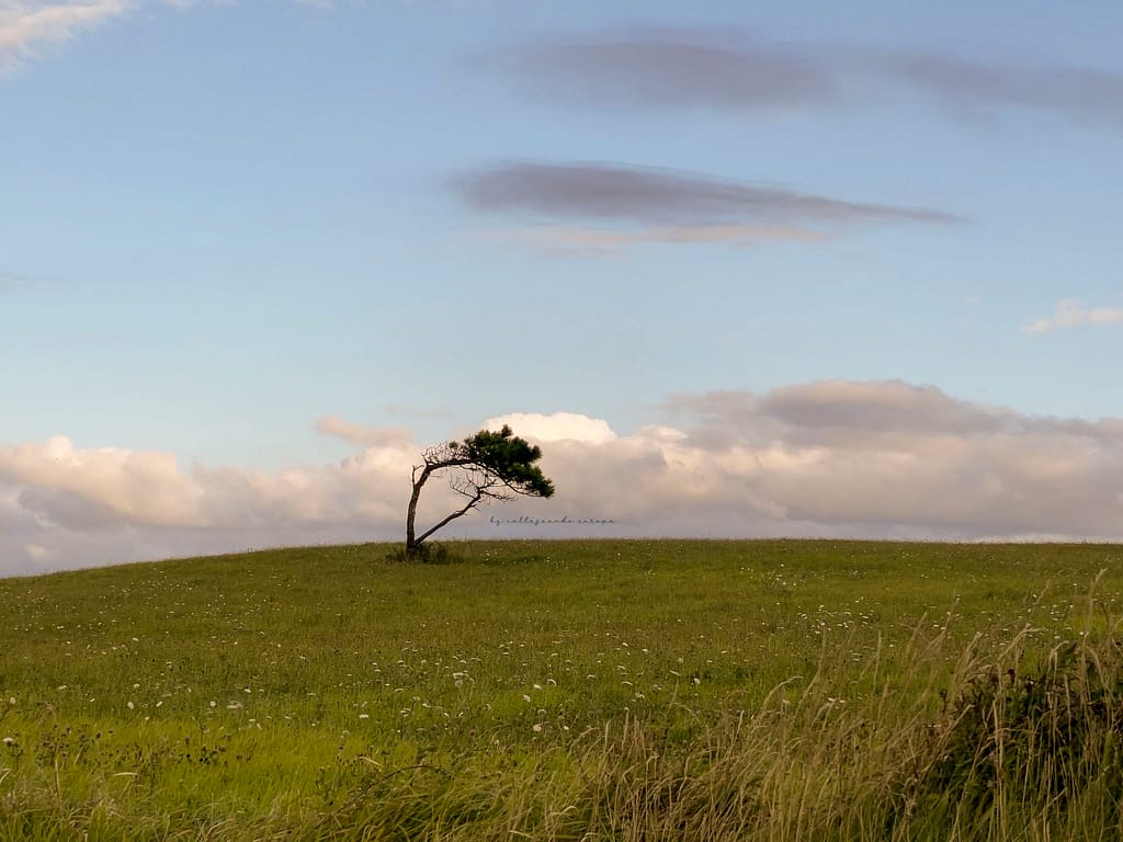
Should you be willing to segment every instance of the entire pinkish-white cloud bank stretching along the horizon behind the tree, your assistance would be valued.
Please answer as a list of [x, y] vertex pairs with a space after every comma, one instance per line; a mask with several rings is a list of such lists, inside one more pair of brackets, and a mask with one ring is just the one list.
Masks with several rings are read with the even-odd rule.
[[[1123, 540], [1123, 420], [1035, 418], [900, 381], [670, 397], [630, 433], [577, 413], [521, 413], [558, 487], [484, 510], [448, 537], [847, 536]], [[401, 538], [422, 442], [323, 419], [359, 446], [265, 473], [171, 454], [0, 446], [0, 573], [248, 547]], [[450, 511], [439, 485], [421, 520]], [[559, 520], [538, 527], [494, 524]], [[611, 521], [579, 525], [572, 521]]]

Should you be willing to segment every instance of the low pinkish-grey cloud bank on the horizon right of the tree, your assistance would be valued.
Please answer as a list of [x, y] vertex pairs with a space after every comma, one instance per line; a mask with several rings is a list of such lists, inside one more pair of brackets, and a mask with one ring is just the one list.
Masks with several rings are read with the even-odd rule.
[[[528, 417], [558, 494], [520, 511], [648, 536], [1123, 540], [1123, 420], [1032, 417], [902, 381], [676, 395], [665, 409], [672, 423], [602, 440]], [[520, 431], [517, 417], [495, 420]]]

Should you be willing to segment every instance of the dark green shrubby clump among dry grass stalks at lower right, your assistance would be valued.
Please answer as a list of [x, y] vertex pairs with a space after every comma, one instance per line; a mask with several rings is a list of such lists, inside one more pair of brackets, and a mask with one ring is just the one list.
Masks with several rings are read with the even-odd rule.
[[[944, 809], [987, 815], [1004, 804], [1053, 816], [1123, 791], [1123, 647], [1068, 642], [1021, 671], [990, 665], [955, 694], [915, 748], [891, 821]], [[1119, 821], [1116, 798], [1112, 821]], [[941, 808], [942, 805], [942, 808]]]

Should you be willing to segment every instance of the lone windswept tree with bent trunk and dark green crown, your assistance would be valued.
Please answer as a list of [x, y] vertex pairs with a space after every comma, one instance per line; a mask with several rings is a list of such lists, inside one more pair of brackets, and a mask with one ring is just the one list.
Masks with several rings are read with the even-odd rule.
[[[405, 555], [416, 557], [422, 542], [450, 521], [467, 514], [482, 502], [514, 500], [515, 495], [549, 497], [554, 483], [535, 465], [542, 456], [538, 447], [529, 445], [503, 424], [499, 432], [481, 430], [464, 441], [435, 445], [424, 451], [423, 465], [413, 466], [413, 493], [405, 513]], [[449, 470], [449, 484], [467, 502], [420, 536], [414, 529], [418, 500], [429, 477]]]

